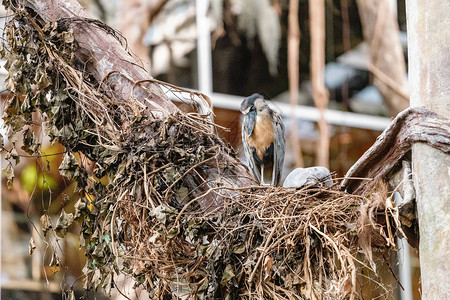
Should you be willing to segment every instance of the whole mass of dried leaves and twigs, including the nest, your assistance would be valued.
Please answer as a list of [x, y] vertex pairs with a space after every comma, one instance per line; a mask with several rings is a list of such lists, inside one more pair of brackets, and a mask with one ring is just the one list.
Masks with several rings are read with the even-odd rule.
[[[23, 135], [31, 155], [40, 155], [39, 124], [66, 147], [59, 169], [82, 197], [55, 226], [47, 215], [41, 221], [61, 237], [80, 223], [87, 289], [109, 293], [114, 274], [124, 273], [154, 299], [359, 297], [357, 272], [371, 260], [373, 236], [391, 239], [372, 220], [383, 203], [336, 188], [205, 180], [235, 167], [224, 165], [221, 158], [235, 154], [210, 133], [212, 124], [195, 114], [153, 119], [136, 114], [133, 99], [109, 99], [75, 58], [68, 22], [43, 25], [15, 10], [2, 49], [12, 92], [4, 119], [13, 146]], [[11, 181], [19, 156], [14, 147], [3, 151]], [[202, 202], [213, 194], [220, 203]]]

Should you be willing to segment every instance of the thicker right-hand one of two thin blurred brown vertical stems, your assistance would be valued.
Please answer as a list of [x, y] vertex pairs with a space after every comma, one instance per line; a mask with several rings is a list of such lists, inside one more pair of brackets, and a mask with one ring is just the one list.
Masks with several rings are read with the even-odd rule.
[[329, 165], [330, 137], [328, 124], [325, 120], [325, 110], [328, 107], [328, 91], [325, 88], [323, 70], [325, 67], [325, 2], [323, 0], [309, 1], [309, 22], [311, 31], [311, 81], [313, 98], [320, 111], [319, 143], [317, 146], [317, 164], [323, 167]]

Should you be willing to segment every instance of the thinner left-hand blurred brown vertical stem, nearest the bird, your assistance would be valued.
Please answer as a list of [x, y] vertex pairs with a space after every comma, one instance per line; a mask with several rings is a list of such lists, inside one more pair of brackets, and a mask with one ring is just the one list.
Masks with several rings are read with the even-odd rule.
[[295, 107], [298, 105], [299, 86], [299, 55], [300, 55], [300, 26], [298, 24], [298, 1], [289, 1], [289, 28], [288, 28], [288, 75], [289, 75], [289, 98], [292, 106], [290, 144], [294, 153], [295, 166], [304, 167], [302, 148], [298, 138], [297, 117]]

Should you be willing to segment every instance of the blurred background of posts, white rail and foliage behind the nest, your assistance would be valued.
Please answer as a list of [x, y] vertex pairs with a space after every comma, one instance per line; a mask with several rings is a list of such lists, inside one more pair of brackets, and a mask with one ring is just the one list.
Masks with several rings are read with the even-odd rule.
[[[272, 100], [286, 127], [284, 177], [295, 167], [316, 165], [344, 176], [390, 117], [409, 105], [404, 0], [79, 2], [122, 33], [151, 76], [208, 95], [216, 123], [228, 129], [220, 134], [236, 150], [242, 99], [260, 93]], [[0, 14], [3, 27], [9, 13]], [[2, 68], [2, 91], [6, 74]], [[62, 263], [42, 237], [41, 212], [56, 220], [62, 208], [73, 212], [80, 197], [59, 175], [63, 147], [44, 138], [42, 158], [18, 152], [22, 160], [11, 189], [2, 180], [2, 297], [60, 299], [61, 288], [73, 285], [76, 298], [102, 299], [82, 291], [85, 261], [76, 225], [56, 247], [64, 253]], [[31, 237], [36, 251], [29, 256]], [[391, 290], [367, 299], [420, 299], [417, 255], [404, 242], [400, 248], [400, 258], [382, 271]], [[123, 289], [132, 287], [125, 282]]]

